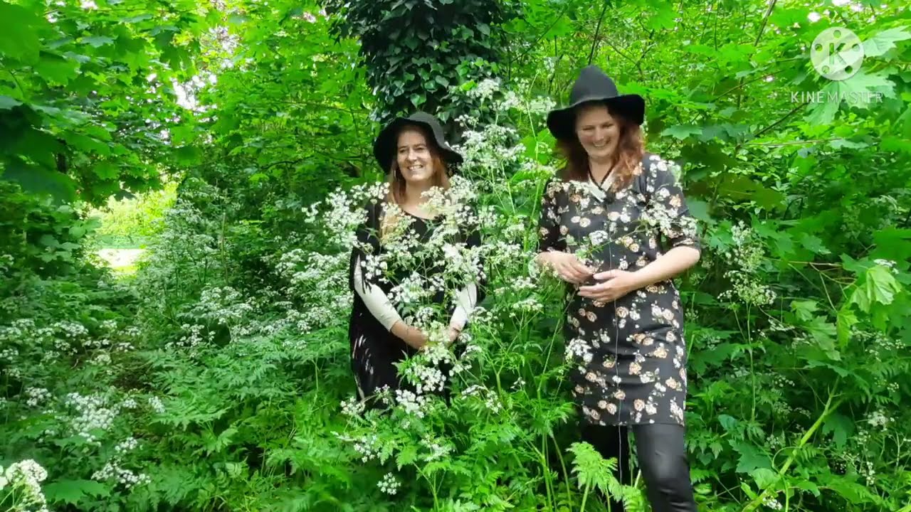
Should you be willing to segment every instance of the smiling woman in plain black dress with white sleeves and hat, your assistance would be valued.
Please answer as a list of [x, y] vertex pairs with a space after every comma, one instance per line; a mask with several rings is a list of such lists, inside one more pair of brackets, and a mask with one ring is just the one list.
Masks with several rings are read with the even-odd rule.
[[[452, 343], [476, 304], [477, 283], [460, 283], [455, 294], [447, 294], [444, 286], [435, 289], [430, 283], [443, 275], [442, 254], [429, 261], [414, 261], [410, 256], [404, 256], [406, 261], [396, 261], [395, 254], [387, 251], [391, 246], [386, 242], [393, 238], [416, 244], [426, 244], [432, 238], [435, 243], [440, 242], [440, 233], [435, 236], [435, 230], [452, 226], [451, 219], [447, 221], [446, 214], [429, 206], [424, 192], [435, 187], [449, 189], [447, 164], [460, 163], [462, 156], [446, 144], [443, 128], [433, 116], [417, 112], [396, 118], [383, 128], [374, 141], [374, 157], [389, 173], [389, 193], [384, 200], [367, 206], [351, 256], [349, 285], [354, 302], [348, 337], [358, 394], [366, 400], [384, 389], [393, 393], [405, 389], [420, 394], [428, 388], [442, 392], [441, 379], [418, 389], [399, 376], [395, 364], [423, 350], [429, 333], [415, 322], [406, 322], [410, 317], [394, 305], [391, 297], [399, 292], [396, 285], [414, 280], [416, 272], [420, 287], [434, 290], [425, 302], [445, 312], [445, 337]], [[476, 231], [459, 231], [450, 238], [451, 241], [446, 240], [453, 246], [479, 245]], [[436, 282], [439, 284], [439, 279]], [[440, 372], [443, 378], [443, 370]], [[375, 401], [371, 405], [376, 405]]]

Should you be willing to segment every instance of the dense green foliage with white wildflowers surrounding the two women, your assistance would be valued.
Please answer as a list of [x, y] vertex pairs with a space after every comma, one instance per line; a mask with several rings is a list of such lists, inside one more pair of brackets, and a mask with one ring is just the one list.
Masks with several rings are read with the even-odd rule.
[[[829, 26], [864, 41], [844, 81]], [[0, 0], [0, 507], [646, 509], [573, 445], [527, 264], [543, 119], [596, 63], [703, 227], [701, 509], [911, 511], [909, 39], [898, 1]], [[489, 290], [453, 404], [364, 418], [330, 235], [415, 107], [468, 157]]]

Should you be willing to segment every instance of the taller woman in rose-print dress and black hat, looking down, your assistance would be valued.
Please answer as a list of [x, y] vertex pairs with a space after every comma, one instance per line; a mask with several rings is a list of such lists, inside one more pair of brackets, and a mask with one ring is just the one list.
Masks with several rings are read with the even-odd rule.
[[566, 337], [583, 439], [616, 457], [629, 483], [629, 428], [652, 510], [692, 511], [687, 352], [671, 279], [701, 246], [676, 166], [643, 148], [644, 109], [589, 66], [570, 106], [550, 112], [566, 166], [542, 198], [538, 261], [572, 285]]

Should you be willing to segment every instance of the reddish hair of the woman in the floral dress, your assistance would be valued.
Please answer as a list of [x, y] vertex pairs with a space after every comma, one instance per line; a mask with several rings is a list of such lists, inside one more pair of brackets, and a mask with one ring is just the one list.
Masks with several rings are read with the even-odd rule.
[[[639, 168], [642, 161], [642, 155], [645, 153], [645, 141], [639, 125], [619, 113], [612, 112], [609, 105], [603, 105], [608, 107], [608, 113], [612, 118], [617, 119], [620, 125], [616, 155], [618, 166], [614, 171], [617, 173], [617, 177], [611, 185], [611, 188], [616, 191], [629, 185], [635, 176], [636, 169]], [[561, 179], [588, 181], [589, 153], [582, 148], [578, 137], [574, 135], [573, 138], [558, 139], [556, 151], [558, 156], [566, 161], [566, 165], [559, 172]]]

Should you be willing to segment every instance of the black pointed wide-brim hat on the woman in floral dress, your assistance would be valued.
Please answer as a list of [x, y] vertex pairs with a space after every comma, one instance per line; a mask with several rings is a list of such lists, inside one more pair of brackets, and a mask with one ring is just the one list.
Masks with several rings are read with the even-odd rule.
[[645, 120], [645, 99], [638, 94], [620, 94], [600, 67], [587, 66], [572, 86], [568, 107], [548, 113], [548, 129], [554, 138], [576, 138], [576, 108], [584, 103], [607, 104], [611, 114], [619, 114], [637, 125]]

